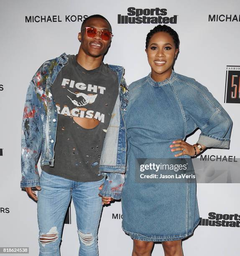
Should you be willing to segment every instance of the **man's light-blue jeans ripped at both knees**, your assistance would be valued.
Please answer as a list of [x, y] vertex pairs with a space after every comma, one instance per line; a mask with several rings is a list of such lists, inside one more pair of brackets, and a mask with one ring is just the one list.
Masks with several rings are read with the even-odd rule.
[[79, 256], [98, 256], [97, 231], [102, 212], [97, 182], [75, 182], [41, 172], [38, 191], [39, 256], [60, 256], [64, 218], [71, 197], [77, 216]]

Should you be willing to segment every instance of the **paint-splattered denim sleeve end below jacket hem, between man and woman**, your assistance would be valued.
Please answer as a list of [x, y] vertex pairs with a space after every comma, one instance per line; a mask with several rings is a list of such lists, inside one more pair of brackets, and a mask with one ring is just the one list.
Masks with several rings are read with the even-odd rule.
[[100, 195], [103, 197], [112, 197], [113, 199], [121, 199], [123, 184], [125, 181], [125, 174], [118, 172], [101, 173], [107, 176], [102, 189], [100, 190]]

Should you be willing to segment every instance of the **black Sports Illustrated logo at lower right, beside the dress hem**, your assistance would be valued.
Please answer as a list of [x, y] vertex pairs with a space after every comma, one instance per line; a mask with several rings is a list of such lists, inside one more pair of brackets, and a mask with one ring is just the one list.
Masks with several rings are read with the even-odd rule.
[[208, 219], [200, 218], [201, 226], [215, 226], [215, 227], [240, 227], [240, 215], [235, 214], [220, 214], [216, 212], [209, 212]]

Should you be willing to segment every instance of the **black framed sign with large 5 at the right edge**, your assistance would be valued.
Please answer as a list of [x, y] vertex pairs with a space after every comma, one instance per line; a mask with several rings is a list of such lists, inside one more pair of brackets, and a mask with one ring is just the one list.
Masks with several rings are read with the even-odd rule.
[[240, 66], [227, 66], [224, 103], [240, 103]]

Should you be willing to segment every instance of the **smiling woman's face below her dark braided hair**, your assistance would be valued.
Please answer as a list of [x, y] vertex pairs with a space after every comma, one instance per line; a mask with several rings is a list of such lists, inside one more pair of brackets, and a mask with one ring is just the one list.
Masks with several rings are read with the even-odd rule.
[[174, 39], [167, 32], [155, 33], [145, 50], [148, 63], [151, 66], [151, 77], [156, 82], [163, 81], [171, 76], [174, 58], [179, 49], [176, 49]]

